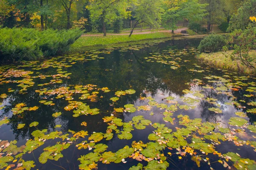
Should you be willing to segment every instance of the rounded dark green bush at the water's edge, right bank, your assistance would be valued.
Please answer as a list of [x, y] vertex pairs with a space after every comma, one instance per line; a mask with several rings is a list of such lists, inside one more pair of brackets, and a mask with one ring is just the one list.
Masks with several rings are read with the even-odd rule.
[[223, 46], [227, 45], [226, 39], [222, 35], [211, 34], [200, 42], [198, 50], [201, 52], [210, 51], [215, 52], [222, 49]]

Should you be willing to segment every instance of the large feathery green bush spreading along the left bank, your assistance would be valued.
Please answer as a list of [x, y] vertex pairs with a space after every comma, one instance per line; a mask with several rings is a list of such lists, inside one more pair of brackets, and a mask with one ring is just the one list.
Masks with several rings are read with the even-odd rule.
[[68, 50], [80, 36], [81, 31], [46, 30], [28, 28], [0, 29], [0, 59], [21, 61], [53, 56]]

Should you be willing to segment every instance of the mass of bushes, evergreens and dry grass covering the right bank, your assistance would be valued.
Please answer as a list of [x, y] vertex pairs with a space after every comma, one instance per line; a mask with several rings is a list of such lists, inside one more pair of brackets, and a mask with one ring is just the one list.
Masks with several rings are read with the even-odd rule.
[[256, 1], [246, 1], [238, 13], [231, 17], [227, 30], [232, 32], [227, 36], [227, 40], [218, 35], [210, 35], [205, 37], [198, 47], [201, 52], [215, 52], [220, 51], [223, 46], [224, 52], [200, 54], [199, 58], [222, 68], [256, 73], [256, 17], [251, 15], [255, 11]]

